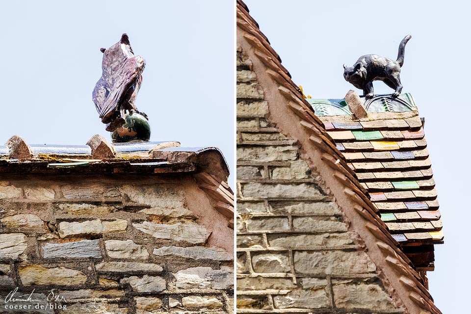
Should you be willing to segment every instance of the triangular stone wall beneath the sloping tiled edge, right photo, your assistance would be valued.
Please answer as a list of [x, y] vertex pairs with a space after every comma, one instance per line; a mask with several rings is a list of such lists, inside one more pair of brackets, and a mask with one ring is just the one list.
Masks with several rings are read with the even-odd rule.
[[403, 313], [300, 145], [270, 122], [262, 86], [239, 48], [237, 312]]

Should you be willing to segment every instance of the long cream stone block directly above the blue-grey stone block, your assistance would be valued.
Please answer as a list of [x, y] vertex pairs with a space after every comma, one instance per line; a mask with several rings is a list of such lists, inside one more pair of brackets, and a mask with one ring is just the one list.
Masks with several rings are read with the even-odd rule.
[[59, 223], [59, 235], [63, 238], [78, 235], [101, 235], [102, 233], [125, 231], [127, 227], [128, 221], [124, 219], [111, 221], [95, 219], [83, 222], [61, 221]]

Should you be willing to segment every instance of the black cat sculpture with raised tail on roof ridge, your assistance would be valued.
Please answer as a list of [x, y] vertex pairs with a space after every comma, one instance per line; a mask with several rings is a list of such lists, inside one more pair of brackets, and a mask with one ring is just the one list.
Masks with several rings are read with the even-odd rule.
[[376, 54], [362, 55], [352, 67], [343, 65], [343, 77], [356, 88], [363, 89], [366, 99], [371, 99], [374, 96], [374, 80], [382, 80], [394, 89], [392, 98], [398, 97], [402, 91], [400, 74], [402, 64], [404, 64], [404, 50], [409, 39], [411, 39], [411, 35], [404, 37], [399, 44], [396, 61]]

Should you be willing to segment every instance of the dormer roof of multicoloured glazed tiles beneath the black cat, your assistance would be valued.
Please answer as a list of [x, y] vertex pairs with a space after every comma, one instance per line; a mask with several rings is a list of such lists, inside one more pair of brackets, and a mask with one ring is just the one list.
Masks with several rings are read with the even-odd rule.
[[[344, 99], [307, 101], [353, 166], [393, 237], [402, 245], [443, 243], [425, 132], [412, 95], [401, 94], [396, 100], [375, 96], [364, 104], [365, 121], [354, 121]], [[433, 209], [427, 202], [433, 202]]]

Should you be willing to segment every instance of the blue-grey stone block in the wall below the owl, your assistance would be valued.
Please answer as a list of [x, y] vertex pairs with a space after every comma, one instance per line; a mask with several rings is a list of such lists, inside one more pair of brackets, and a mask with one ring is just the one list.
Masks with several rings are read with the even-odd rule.
[[92, 257], [99, 259], [102, 257], [98, 240], [81, 240], [68, 243], [46, 243], [42, 246], [43, 257], [53, 258], [85, 258]]

